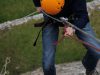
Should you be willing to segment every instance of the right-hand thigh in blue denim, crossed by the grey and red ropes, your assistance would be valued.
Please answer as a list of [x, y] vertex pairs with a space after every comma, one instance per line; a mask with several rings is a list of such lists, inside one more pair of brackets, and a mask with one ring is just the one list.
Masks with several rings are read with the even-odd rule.
[[[87, 25], [82, 30], [95, 37], [95, 33], [94, 33], [92, 27], [90, 26], [90, 23], [87, 23]], [[79, 31], [76, 32], [76, 35], [79, 39], [81, 39], [81, 40], [95, 46], [96, 48], [100, 49], [100, 43], [98, 41], [96, 41], [95, 39], [79, 32]], [[87, 46], [87, 45], [84, 45], [84, 46], [89, 50], [89, 52], [91, 52], [93, 54], [96, 53], [96, 55], [98, 54], [100, 56], [100, 52], [97, 52], [96, 49], [94, 49], [90, 46]]]

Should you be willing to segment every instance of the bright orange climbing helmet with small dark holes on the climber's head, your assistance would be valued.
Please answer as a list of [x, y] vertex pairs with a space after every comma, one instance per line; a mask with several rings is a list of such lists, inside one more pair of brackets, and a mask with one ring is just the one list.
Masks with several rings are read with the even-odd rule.
[[56, 15], [62, 10], [65, 1], [64, 0], [41, 0], [40, 3], [42, 9], [47, 14]]

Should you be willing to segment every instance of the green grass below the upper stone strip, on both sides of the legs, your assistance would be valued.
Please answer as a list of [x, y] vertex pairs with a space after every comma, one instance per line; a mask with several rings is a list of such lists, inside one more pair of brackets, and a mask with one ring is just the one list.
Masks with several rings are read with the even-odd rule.
[[[90, 17], [98, 38], [100, 38], [99, 14], [99, 11], [95, 11]], [[33, 40], [40, 29], [33, 27], [34, 22], [30, 21], [10, 30], [0, 31], [0, 70], [6, 57], [11, 57], [11, 63], [7, 66], [10, 75], [19, 75], [41, 66], [42, 40], [40, 37], [37, 46], [33, 47]], [[62, 36], [61, 29], [59, 38]], [[57, 46], [56, 64], [81, 60], [85, 52], [85, 48], [79, 42], [66, 38]]]

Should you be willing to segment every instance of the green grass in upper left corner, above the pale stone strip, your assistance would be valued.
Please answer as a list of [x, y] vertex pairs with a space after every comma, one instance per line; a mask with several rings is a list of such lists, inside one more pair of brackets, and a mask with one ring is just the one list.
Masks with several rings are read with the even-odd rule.
[[32, 0], [0, 0], [0, 23], [35, 11]]

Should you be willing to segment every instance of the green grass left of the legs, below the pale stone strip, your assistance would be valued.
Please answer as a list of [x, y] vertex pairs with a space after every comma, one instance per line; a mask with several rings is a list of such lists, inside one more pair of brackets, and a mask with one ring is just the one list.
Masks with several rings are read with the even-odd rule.
[[10, 75], [19, 75], [18, 73], [34, 69], [39, 64], [36, 59], [40, 55], [32, 46], [36, 31], [32, 24], [33, 22], [0, 31], [0, 68], [4, 64], [4, 59], [10, 56], [11, 63], [8, 69], [14, 73]]

